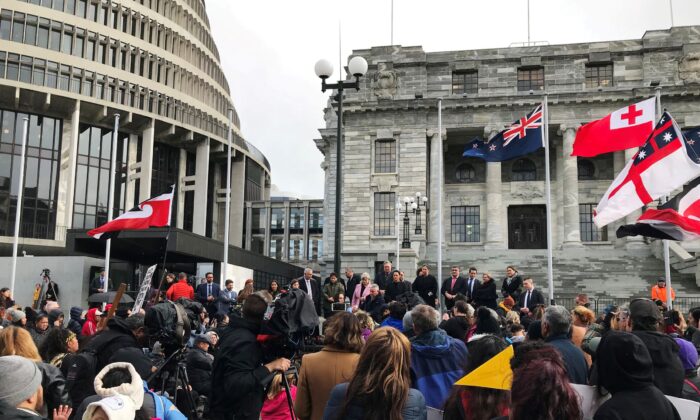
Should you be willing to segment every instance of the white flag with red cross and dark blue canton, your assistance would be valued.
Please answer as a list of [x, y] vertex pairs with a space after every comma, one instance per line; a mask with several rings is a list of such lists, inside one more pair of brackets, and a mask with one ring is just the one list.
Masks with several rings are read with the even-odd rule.
[[664, 112], [598, 203], [593, 221], [598, 227], [624, 217], [700, 176], [700, 162], [671, 115]]

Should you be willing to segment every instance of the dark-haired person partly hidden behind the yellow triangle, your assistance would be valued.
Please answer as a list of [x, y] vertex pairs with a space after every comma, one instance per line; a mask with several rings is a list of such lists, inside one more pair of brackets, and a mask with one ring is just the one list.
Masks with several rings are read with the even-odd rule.
[[[469, 358], [464, 367], [468, 374], [497, 355], [508, 344], [500, 337], [486, 335], [467, 344]], [[463, 413], [462, 395], [467, 394], [469, 412]], [[510, 403], [510, 391], [500, 389], [480, 388], [471, 386], [454, 386], [450, 396], [445, 401], [445, 420], [480, 420], [492, 419], [503, 415], [503, 409]]]

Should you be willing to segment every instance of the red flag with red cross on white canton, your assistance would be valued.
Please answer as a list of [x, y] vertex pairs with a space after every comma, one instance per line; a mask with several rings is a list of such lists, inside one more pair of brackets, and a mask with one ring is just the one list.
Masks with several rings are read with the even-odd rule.
[[612, 114], [579, 128], [571, 156], [596, 156], [601, 153], [639, 147], [654, 129], [656, 99], [618, 109]]

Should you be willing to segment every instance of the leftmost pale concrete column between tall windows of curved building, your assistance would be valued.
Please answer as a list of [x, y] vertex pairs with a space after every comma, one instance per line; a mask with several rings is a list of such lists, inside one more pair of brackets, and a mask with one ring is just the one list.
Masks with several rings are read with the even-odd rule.
[[66, 230], [73, 227], [73, 201], [75, 197], [75, 171], [78, 163], [78, 138], [80, 136], [80, 101], [75, 102], [70, 121], [64, 120], [61, 133], [61, 157], [56, 203], [56, 236], [65, 240]]

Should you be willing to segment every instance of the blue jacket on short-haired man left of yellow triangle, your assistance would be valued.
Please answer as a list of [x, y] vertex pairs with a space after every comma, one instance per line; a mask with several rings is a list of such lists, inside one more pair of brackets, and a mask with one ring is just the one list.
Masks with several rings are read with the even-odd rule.
[[438, 329], [413, 338], [411, 349], [412, 387], [429, 407], [442, 409], [452, 385], [464, 376], [467, 346]]

